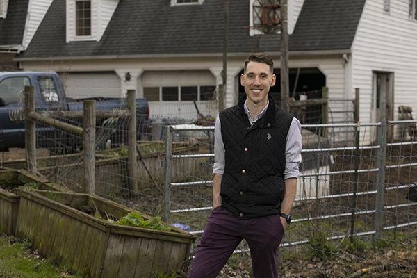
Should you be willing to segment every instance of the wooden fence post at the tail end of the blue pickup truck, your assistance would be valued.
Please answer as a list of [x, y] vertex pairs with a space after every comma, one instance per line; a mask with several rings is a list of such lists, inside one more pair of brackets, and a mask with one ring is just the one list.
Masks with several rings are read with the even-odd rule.
[[136, 159], [136, 91], [127, 90], [127, 109], [131, 113], [127, 127], [127, 145], [129, 160], [129, 186], [138, 192], [138, 165]]

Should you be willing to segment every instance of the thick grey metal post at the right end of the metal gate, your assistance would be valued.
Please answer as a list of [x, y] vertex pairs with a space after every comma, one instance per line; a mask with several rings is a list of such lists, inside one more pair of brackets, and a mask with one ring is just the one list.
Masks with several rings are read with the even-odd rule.
[[373, 198], [373, 230], [375, 231], [375, 241], [382, 237], [382, 226], [384, 224], [384, 184], [385, 184], [385, 159], [386, 159], [386, 121], [381, 122], [381, 126], [377, 129], [376, 145], [379, 145], [375, 156], [375, 172], [374, 190], [377, 191]]

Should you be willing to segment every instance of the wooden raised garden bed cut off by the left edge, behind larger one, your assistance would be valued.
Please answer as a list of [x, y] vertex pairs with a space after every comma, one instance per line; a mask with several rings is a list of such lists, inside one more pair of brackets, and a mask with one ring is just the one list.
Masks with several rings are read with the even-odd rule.
[[[58, 186], [26, 170], [0, 170], [0, 231], [13, 235], [16, 231], [17, 214], [19, 212], [20, 196], [15, 188], [26, 183], [39, 184], [40, 188], [58, 190]], [[7, 187], [6, 187], [7, 185]]]

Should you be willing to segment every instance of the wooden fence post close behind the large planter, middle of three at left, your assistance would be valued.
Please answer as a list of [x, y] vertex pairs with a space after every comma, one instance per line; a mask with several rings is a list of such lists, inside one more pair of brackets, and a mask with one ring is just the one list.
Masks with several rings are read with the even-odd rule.
[[84, 190], [95, 193], [95, 123], [96, 101], [83, 101], [84, 120]]

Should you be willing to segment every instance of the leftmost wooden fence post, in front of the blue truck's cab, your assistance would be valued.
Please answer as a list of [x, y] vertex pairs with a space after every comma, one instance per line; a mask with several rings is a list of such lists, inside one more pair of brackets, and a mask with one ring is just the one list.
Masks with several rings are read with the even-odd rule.
[[29, 120], [29, 113], [35, 111], [35, 87], [24, 86], [24, 137], [28, 171], [36, 173], [36, 122]]

